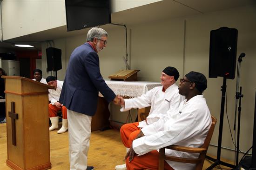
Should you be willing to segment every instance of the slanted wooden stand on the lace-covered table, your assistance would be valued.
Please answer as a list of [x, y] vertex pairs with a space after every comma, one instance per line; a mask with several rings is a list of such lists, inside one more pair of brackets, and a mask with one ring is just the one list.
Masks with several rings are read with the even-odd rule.
[[140, 70], [120, 70], [108, 76], [111, 80], [137, 81], [137, 72]]

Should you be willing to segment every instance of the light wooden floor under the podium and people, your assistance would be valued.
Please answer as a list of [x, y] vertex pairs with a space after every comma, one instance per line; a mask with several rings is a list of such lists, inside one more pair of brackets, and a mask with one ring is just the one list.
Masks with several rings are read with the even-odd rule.
[[[68, 133], [57, 134], [50, 131], [51, 170], [69, 170], [68, 162]], [[94, 170], [115, 170], [115, 165], [124, 162], [126, 149], [123, 146], [119, 131], [93, 131], [88, 153], [88, 165]], [[11, 170], [6, 165], [7, 160], [7, 135], [6, 124], [0, 124], [0, 170]], [[205, 170], [209, 167], [208, 161], [204, 162]], [[222, 167], [223, 170], [225, 169]], [[216, 168], [214, 170], [217, 170]]]

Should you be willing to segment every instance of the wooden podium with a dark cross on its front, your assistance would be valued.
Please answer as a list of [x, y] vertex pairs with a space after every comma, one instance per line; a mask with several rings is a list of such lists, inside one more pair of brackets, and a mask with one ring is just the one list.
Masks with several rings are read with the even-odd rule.
[[7, 165], [13, 170], [47, 170], [50, 163], [48, 88], [28, 78], [5, 78]]

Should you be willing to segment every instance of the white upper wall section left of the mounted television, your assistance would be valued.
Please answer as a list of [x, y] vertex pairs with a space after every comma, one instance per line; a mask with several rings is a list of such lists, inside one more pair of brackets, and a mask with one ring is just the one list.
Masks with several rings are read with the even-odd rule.
[[3, 0], [3, 40], [66, 25], [65, 0]]

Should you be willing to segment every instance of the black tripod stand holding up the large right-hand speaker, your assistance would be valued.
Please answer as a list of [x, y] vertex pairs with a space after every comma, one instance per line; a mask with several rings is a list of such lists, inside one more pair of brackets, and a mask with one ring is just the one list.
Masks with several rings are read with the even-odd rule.
[[226, 78], [226, 76], [224, 76], [223, 77], [223, 85], [221, 86], [222, 102], [221, 102], [221, 115], [220, 115], [217, 158], [215, 159], [215, 158], [206, 156], [207, 159], [214, 161], [214, 163], [211, 166], [209, 166], [206, 170], [212, 170], [214, 167], [216, 167], [219, 164], [222, 164], [222, 165], [230, 167], [230, 168], [235, 168], [235, 165], [221, 161], [222, 129], [223, 129], [223, 117], [224, 117], [224, 107], [225, 107], [225, 97], [226, 97], [226, 82], [227, 82], [227, 78]]

